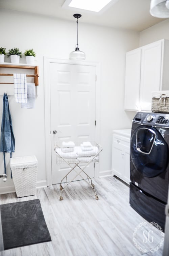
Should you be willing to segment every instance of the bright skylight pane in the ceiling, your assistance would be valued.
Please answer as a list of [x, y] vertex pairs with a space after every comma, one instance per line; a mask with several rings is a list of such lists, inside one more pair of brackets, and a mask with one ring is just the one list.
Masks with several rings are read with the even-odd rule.
[[111, 1], [112, 0], [72, 0], [69, 4], [69, 7], [99, 12]]

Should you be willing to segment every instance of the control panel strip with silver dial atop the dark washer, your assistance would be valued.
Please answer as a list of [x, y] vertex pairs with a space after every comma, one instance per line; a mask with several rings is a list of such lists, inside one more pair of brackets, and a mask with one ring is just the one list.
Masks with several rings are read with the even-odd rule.
[[169, 127], [169, 114], [138, 112], [135, 115], [133, 122], [159, 127]]

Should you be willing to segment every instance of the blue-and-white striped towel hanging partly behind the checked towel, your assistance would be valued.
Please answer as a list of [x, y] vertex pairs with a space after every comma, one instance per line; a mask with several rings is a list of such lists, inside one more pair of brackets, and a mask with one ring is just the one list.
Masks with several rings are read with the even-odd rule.
[[21, 103], [22, 109], [34, 109], [35, 102], [35, 85], [34, 83], [27, 83], [28, 101], [27, 103]]

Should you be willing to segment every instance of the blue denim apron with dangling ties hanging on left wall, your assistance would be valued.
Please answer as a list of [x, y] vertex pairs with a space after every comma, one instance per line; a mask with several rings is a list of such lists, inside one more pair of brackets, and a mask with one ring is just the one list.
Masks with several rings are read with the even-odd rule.
[[[3, 152], [5, 174], [6, 174], [5, 152], [10, 153], [10, 157], [11, 157], [12, 152], [14, 151], [15, 151], [15, 138], [14, 138], [12, 120], [11, 120], [10, 110], [9, 110], [8, 96], [6, 93], [4, 93], [0, 152]], [[11, 178], [12, 178], [12, 173], [11, 173]]]

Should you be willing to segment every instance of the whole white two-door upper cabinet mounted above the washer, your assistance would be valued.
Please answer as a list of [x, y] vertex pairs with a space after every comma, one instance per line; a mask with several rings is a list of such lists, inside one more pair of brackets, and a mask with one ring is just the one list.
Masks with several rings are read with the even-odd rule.
[[153, 91], [169, 90], [169, 40], [126, 53], [125, 110], [151, 111]]

